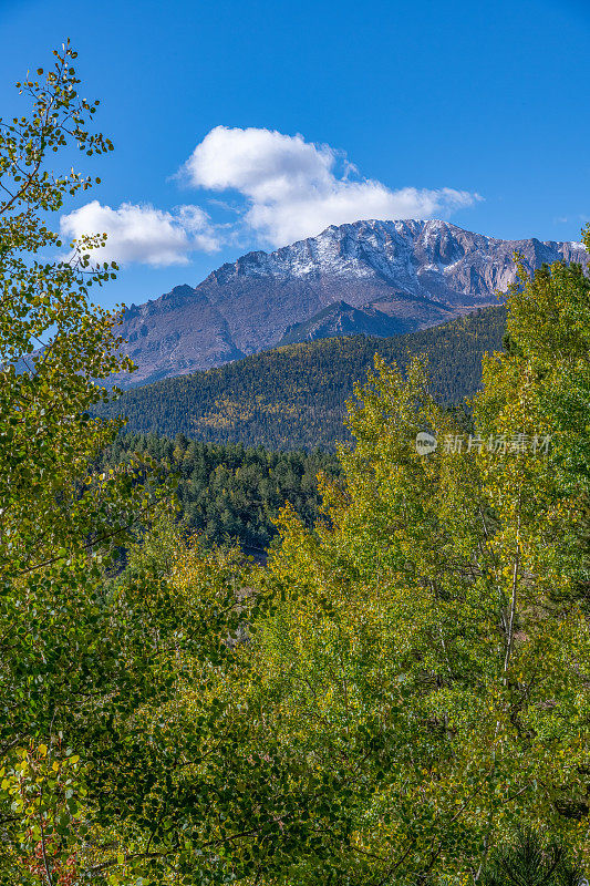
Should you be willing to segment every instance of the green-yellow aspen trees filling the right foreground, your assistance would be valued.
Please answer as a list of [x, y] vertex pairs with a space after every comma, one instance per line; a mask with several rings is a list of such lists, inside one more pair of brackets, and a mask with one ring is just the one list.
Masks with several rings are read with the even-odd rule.
[[[586, 474], [563, 456], [587, 419], [556, 409], [588, 347], [537, 358], [546, 315], [530, 306], [549, 278], [565, 334], [587, 281], [541, 274], [510, 293], [517, 347], [485, 363], [480, 445], [445, 449], [464, 429], [423, 362], [403, 375], [375, 358], [350, 404], [356, 445], [324, 487], [328, 523], [283, 514], [263, 585], [280, 602], [252, 650], [257, 710], [313, 761], [333, 816], [314, 821], [330, 838], [293, 862], [293, 882], [473, 882], [522, 825], [588, 858], [586, 483], [568, 471]], [[424, 430], [434, 454], [416, 452]], [[548, 455], [511, 446], [535, 434], [555, 435]]]

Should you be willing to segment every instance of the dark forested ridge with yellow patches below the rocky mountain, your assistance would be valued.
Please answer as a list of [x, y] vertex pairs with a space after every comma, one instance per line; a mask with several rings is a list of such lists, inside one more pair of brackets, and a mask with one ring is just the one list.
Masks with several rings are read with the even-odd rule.
[[270, 449], [332, 447], [350, 439], [345, 403], [375, 354], [404, 365], [410, 356], [426, 353], [434, 395], [458, 403], [478, 389], [482, 354], [501, 348], [505, 326], [498, 306], [394, 338], [293, 344], [127, 391], [103, 414], [126, 415], [135, 432]]

